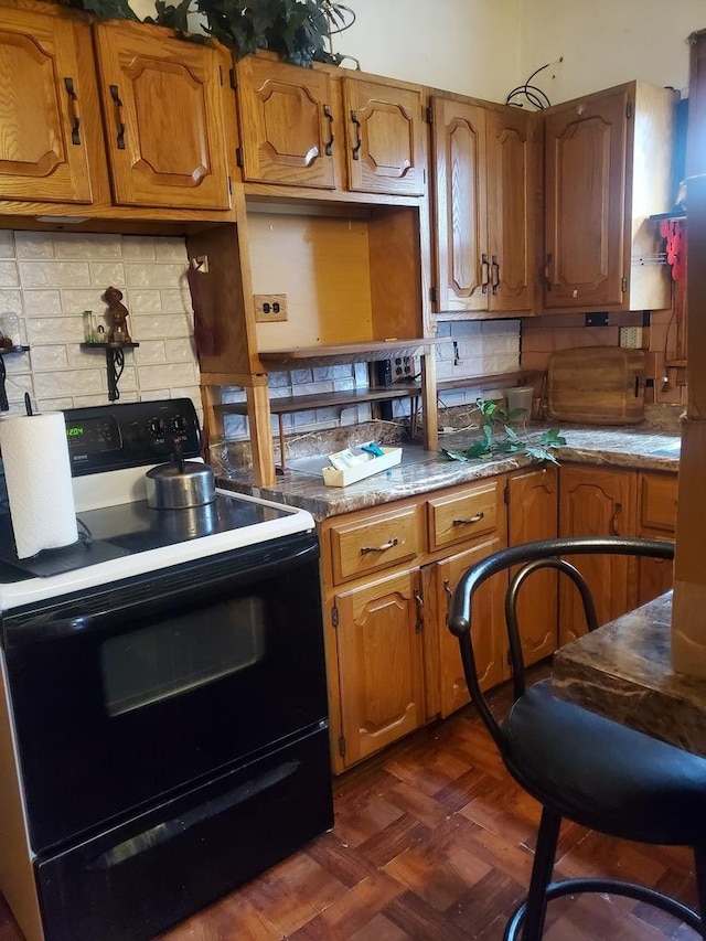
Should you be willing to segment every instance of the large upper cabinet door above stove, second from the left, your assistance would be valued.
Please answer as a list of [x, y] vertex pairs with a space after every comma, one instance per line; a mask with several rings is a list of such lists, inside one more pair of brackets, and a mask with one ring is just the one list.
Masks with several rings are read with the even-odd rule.
[[114, 201], [229, 208], [217, 50], [136, 23], [95, 31]]

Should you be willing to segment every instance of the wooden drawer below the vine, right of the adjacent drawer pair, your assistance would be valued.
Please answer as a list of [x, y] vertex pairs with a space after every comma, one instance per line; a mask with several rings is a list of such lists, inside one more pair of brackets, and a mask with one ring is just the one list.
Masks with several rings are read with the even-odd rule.
[[428, 500], [429, 550], [494, 532], [500, 499], [500, 482], [493, 480], [462, 493]]

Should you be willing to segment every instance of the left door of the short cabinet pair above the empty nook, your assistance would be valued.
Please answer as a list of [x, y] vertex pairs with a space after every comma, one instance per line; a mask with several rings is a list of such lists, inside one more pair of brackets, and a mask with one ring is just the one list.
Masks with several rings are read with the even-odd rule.
[[330, 76], [254, 55], [240, 60], [237, 76], [244, 180], [332, 190]]

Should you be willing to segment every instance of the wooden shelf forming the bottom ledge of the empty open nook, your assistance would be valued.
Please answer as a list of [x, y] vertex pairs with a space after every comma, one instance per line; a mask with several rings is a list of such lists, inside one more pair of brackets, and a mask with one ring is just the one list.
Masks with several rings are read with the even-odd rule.
[[297, 368], [302, 365], [335, 365], [338, 363], [374, 363], [395, 356], [419, 356], [438, 343], [451, 343], [450, 336], [410, 340], [371, 340], [365, 343], [336, 343], [330, 346], [295, 346], [290, 350], [260, 350], [265, 365]]

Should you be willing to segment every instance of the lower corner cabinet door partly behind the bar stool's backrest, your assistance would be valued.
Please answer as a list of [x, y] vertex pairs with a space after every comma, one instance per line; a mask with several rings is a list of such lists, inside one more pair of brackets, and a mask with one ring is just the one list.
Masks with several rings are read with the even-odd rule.
[[[637, 532], [638, 488], [634, 471], [561, 467], [560, 536], [631, 536]], [[628, 556], [577, 556], [596, 602], [599, 624], [612, 621], [638, 602], [637, 559]], [[573, 584], [559, 585], [559, 645], [586, 633], [582, 607]]]

